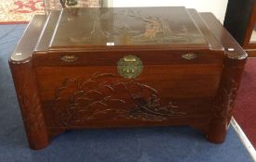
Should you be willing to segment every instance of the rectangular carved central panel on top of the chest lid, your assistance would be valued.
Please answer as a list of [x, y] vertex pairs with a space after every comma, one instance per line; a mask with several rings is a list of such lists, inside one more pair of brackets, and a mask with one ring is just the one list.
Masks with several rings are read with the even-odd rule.
[[[181, 14], [183, 17], [178, 19]], [[170, 35], [173, 32], [175, 37]], [[105, 49], [106, 43], [114, 43], [117, 48], [125, 45], [125, 49], [129, 48], [127, 45], [143, 44], [187, 47], [188, 42], [190, 46], [208, 47], [182, 6], [161, 7], [154, 12], [150, 7], [65, 8], [55, 34], [50, 44], [53, 49], [64, 46], [81, 49], [91, 45]]]

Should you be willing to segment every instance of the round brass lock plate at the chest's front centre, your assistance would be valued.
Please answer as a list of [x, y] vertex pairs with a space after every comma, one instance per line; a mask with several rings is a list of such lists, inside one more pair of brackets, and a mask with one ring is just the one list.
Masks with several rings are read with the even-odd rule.
[[118, 61], [117, 69], [123, 78], [134, 79], [141, 74], [143, 63], [137, 56], [123, 56]]

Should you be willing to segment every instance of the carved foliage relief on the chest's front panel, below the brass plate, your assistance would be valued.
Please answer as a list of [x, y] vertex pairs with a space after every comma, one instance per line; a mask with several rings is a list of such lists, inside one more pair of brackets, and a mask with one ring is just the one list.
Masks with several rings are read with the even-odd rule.
[[114, 74], [94, 74], [91, 78], [65, 79], [56, 90], [51, 106], [57, 124], [83, 125], [92, 119], [165, 120], [185, 115], [170, 102], [162, 105], [158, 93], [139, 81], [117, 81]]

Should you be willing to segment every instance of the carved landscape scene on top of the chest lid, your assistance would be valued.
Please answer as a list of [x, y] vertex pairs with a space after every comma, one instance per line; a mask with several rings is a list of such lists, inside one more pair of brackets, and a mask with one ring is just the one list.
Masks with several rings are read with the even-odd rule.
[[[76, 13], [81, 21], [84, 15]], [[201, 42], [201, 35], [188, 31], [186, 24], [175, 24], [161, 16], [141, 10], [93, 10], [79, 35], [70, 36], [74, 44], [188, 44]], [[70, 17], [73, 19], [73, 16]], [[85, 18], [84, 18], [85, 19]], [[86, 26], [86, 27], [85, 27]], [[178, 27], [177, 27], [178, 26]], [[190, 27], [191, 28], [191, 27]]]

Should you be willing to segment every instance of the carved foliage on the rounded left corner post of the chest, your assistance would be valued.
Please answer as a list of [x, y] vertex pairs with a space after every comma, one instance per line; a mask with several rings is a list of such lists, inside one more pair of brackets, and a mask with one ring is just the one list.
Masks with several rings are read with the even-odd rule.
[[30, 134], [32, 131], [45, 131], [45, 118], [33, 78], [31, 63], [11, 65], [11, 69], [27, 132]]

